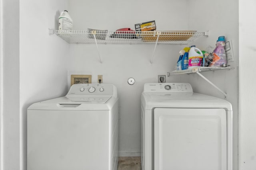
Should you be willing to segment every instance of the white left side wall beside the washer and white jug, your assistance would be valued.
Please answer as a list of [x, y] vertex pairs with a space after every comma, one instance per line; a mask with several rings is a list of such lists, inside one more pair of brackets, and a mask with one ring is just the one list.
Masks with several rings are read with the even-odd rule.
[[68, 90], [69, 45], [48, 32], [48, 29], [58, 29], [58, 16], [66, 6], [66, 0], [20, 0], [20, 75], [17, 75], [20, 76], [20, 92], [17, 93], [20, 94], [20, 129], [16, 132], [20, 132], [20, 154], [16, 149], [15, 156], [20, 156], [23, 170], [26, 170], [28, 106], [64, 96]]

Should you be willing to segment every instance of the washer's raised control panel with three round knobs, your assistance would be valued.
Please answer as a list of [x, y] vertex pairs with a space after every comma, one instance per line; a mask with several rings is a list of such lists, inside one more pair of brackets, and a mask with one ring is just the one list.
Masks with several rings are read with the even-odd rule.
[[67, 96], [112, 96], [113, 84], [74, 84], [70, 87]]

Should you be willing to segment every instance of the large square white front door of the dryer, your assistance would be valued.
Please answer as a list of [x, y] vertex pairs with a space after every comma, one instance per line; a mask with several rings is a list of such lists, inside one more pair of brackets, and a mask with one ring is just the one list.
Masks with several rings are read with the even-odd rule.
[[155, 108], [154, 170], [226, 170], [224, 109]]

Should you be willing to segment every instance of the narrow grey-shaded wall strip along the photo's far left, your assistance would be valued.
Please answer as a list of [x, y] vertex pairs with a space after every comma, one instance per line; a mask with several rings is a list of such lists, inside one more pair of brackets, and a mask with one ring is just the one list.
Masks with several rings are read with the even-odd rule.
[[3, 0], [3, 165], [4, 170], [20, 167], [20, 66], [19, 0]]

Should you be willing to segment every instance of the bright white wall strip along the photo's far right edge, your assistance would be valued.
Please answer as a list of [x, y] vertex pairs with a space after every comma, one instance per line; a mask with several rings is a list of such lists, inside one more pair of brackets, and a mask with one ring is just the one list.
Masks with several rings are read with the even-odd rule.
[[239, 0], [240, 170], [256, 168], [255, 0]]

